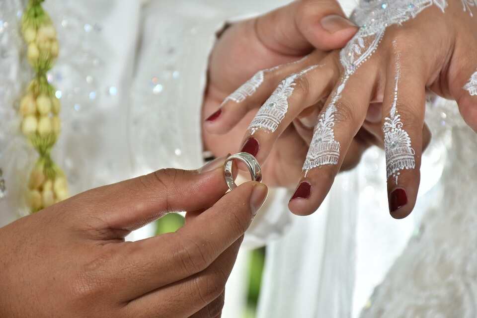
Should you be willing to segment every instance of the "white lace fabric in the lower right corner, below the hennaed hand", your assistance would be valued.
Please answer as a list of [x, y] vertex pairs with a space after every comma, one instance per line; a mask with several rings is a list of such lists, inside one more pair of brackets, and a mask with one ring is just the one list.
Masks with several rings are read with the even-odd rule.
[[[361, 318], [477, 317], [477, 143], [454, 127], [441, 197], [379, 285]], [[464, 185], [464, 186], [463, 186]]]

